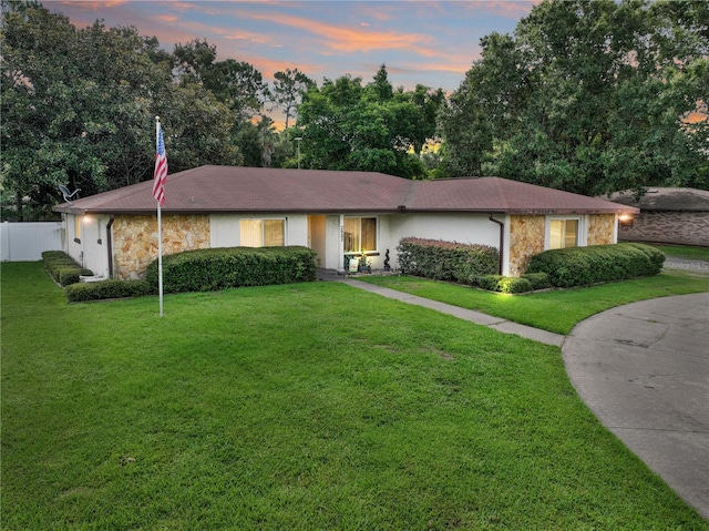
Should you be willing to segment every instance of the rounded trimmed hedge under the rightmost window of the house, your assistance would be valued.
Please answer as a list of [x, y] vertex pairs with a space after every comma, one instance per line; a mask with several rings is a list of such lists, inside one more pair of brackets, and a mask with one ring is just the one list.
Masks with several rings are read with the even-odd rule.
[[527, 273], [546, 273], [557, 287], [588, 286], [660, 273], [665, 254], [649, 245], [621, 243], [551, 249], [530, 258]]

